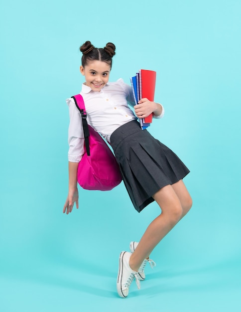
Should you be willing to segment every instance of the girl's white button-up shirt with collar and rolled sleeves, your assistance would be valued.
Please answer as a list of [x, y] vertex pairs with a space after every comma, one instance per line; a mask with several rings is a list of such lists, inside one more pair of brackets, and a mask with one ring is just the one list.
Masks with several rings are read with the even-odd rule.
[[[108, 142], [112, 133], [120, 126], [137, 117], [128, 107], [135, 105], [131, 87], [119, 79], [116, 82], [108, 82], [100, 92], [93, 91], [90, 87], [82, 85], [80, 92], [84, 99], [88, 124], [99, 132]], [[84, 154], [84, 132], [80, 112], [72, 98], [66, 100], [69, 106], [69, 152], [68, 159], [71, 162], [79, 162]], [[164, 109], [160, 116], [162, 118]]]

